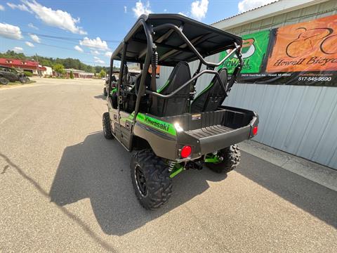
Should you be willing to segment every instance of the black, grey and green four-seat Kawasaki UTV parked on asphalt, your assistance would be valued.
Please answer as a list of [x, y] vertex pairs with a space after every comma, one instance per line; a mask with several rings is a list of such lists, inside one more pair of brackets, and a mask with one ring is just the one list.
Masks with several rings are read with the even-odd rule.
[[[184, 169], [205, 164], [227, 173], [239, 164], [236, 143], [257, 134], [258, 115], [250, 110], [223, 106], [242, 68], [242, 39], [183, 15], [142, 15], [112, 53], [108, 112], [103, 114], [105, 138], [116, 138], [126, 150], [136, 150], [131, 159], [131, 181], [146, 209], [165, 204], [172, 192], [172, 178]], [[227, 50], [219, 63], [206, 56]], [[231, 77], [216, 70], [236, 55]], [[121, 61], [117, 86], [112, 85], [114, 60]], [[191, 61], [199, 60], [193, 75]], [[127, 63], [139, 63], [136, 81], [128, 81]], [[174, 67], [160, 89], [157, 65]], [[206, 69], [201, 70], [205, 65]], [[213, 75], [196, 96], [197, 79]]]

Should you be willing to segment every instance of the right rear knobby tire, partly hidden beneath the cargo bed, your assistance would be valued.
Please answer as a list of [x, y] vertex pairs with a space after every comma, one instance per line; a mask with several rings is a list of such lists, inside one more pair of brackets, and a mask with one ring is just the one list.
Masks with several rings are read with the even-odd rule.
[[218, 155], [223, 157], [222, 162], [217, 164], [206, 163], [206, 166], [216, 173], [228, 173], [232, 171], [237, 167], [241, 159], [240, 149], [236, 144], [220, 150]]

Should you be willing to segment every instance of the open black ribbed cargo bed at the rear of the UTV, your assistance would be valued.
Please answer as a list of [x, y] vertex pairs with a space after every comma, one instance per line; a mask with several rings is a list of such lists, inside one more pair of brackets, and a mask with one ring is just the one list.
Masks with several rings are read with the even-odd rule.
[[185, 113], [157, 119], [175, 127], [178, 124], [182, 129], [177, 131], [178, 145], [194, 143], [191, 158], [248, 140], [254, 136], [253, 127], [258, 125], [258, 115], [255, 112], [226, 106], [213, 112]]

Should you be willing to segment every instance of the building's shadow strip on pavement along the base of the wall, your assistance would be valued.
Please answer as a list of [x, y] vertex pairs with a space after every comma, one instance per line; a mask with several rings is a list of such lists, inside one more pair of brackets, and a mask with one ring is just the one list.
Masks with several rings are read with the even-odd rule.
[[337, 228], [336, 191], [249, 153], [242, 152], [236, 171]]

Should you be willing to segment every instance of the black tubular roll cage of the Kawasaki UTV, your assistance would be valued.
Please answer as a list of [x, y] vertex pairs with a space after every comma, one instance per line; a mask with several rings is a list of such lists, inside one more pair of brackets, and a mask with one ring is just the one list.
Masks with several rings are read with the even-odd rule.
[[[136, 91], [137, 100], [136, 100], [136, 108], [135, 108], [134, 115], [133, 115], [133, 125], [136, 123], [136, 117], [138, 115], [140, 99], [145, 95], [145, 93], [151, 94], [152, 96], [158, 96], [160, 98], [171, 98], [176, 93], [178, 93], [178, 91], [183, 89], [188, 84], [191, 84], [192, 82], [197, 82], [197, 79], [202, 74], [215, 74], [215, 76], [218, 79], [218, 82], [221, 86], [221, 89], [223, 89], [223, 91], [225, 91], [225, 96], [228, 96], [228, 93], [229, 93], [230, 89], [232, 88], [232, 85], [234, 84], [235, 79], [237, 78], [237, 75], [242, 70], [243, 60], [242, 60], [242, 54], [241, 54], [241, 48], [242, 48], [241, 45], [237, 45], [237, 43], [234, 42], [232, 47], [230, 47], [230, 46], [228, 47], [228, 48], [233, 48], [232, 51], [230, 51], [230, 53], [228, 53], [227, 56], [225, 58], [223, 58], [223, 60], [220, 60], [220, 62], [218, 62], [218, 63], [208, 62], [204, 59], [204, 57], [201, 56], [201, 54], [193, 46], [191, 41], [189, 39], [187, 39], [187, 37], [183, 33], [183, 27], [178, 27], [178, 26], [173, 25], [173, 24], [164, 24], [164, 25], [158, 25], [157, 27], [152, 27], [149, 24], [147, 24], [146, 18], [147, 18], [147, 15], [142, 15], [142, 16], [140, 16], [140, 18], [138, 18], [136, 24], [133, 25], [133, 27], [131, 28], [131, 31], [128, 32], [128, 34], [126, 35], [126, 37], [124, 38], [122, 43], [117, 47], [117, 49], [114, 51], [114, 53], [112, 53], [112, 56], [110, 58], [110, 72], [109, 72], [109, 74], [110, 74], [109, 87], [108, 87], [109, 88], [109, 90], [108, 90], [109, 96], [110, 96], [110, 90], [111, 90], [111, 85], [112, 85], [112, 70], [113, 70], [114, 58], [119, 53], [120, 46], [122, 46], [121, 67], [120, 67], [120, 70], [119, 70], [119, 79], [118, 79], [118, 83], [117, 83], [117, 99], [118, 99], [118, 101], [121, 101], [121, 99], [122, 99], [121, 98], [121, 82], [122, 82], [121, 77], [122, 77], [122, 74], [124, 73], [124, 65], [126, 63], [125, 55], [126, 55], [126, 50], [127, 50], [127, 47], [128, 47], [128, 41], [131, 39], [134, 32], [136, 32], [138, 30], [138, 28], [141, 27], [141, 26], [143, 26], [143, 29], [144, 29], [144, 32], [145, 32], [145, 35], [146, 35], [146, 39], [147, 39], [147, 50], [146, 50], [145, 61], [144, 61], [144, 63], [141, 63], [143, 65], [143, 67], [142, 67], [143, 71], [149, 69], [151, 58], [152, 58], [152, 52], [156, 48], [156, 45], [153, 43], [152, 34], [154, 32], [157, 32], [159, 30], [164, 30], [164, 29], [167, 29], [167, 28], [176, 32], [179, 35], [179, 37], [181, 39], [183, 39], [183, 41], [185, 41], [185, 44], [188, 47], [190, 47], [190, 49], [197, 56], [197, 58], [199, 58], [200, 62], [199, 62], [199, 67], [197, 69], [196, 74], [194, 74], [194, 76], [189, 81], [185, 82], [185, 84], [183, 84], [178, 89], [176, 89], [176, 91], [173, 91], [173, 92], [171, 92], [167, 95], [163, 95], [163, 94], [157, 93], [155, 91], [147, 90], [146, 86], [145, 86], [146, 74], [142, 74], [141, 78], [140, 78], [140, 86], [139, 86], [138, 92]], [[223, 64], [225, 62], [225, 60], [227, 60], [227, 58], [232, 56], [232, 54], [234, 54], [234, 53], [237, 55], [237, 58], [239, 59], [239, 65], [237, 65], [237, 67], [235, 67], [234, 72], [232, 74], [232, 77], [227, 82], [227, 84], [223, 84], [222, 80], [220, 79], [220, 74], [218, 73], [218, 71], [214, 70], [214, 68]], [[202, 64], [206, 65], [206, 70], [202, 70], [200, 72]], [[118, 115], [119, 115], [119, 110], [120, 110], [120, 104], [121, 103], [118, 103], [118, 108], [117, 108]], [[119, 122], [119, 118], [120, 117], [118, 117], [118, 122]], [[131, 131], [133, 131], [133, 128], [131, 129]]]

